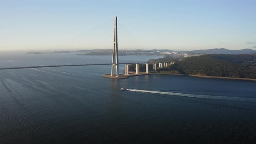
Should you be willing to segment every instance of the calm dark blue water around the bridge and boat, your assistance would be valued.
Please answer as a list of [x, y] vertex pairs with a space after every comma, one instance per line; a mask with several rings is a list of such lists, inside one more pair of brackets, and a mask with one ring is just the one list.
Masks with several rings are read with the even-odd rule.
[[[49, 62], [56, 59], [47, 57]], [[256, 82], [178, 75], [119, 80], [101, 76], [110, 71], [110, 65], [0, 71], [0, 143], [256, 140]]]

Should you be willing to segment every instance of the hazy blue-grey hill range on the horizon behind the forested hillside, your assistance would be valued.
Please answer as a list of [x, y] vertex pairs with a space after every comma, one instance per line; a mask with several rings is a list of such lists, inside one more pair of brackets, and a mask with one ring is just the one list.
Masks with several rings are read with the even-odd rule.
[[240, 49], [240, 50], [229, 50], [229, 49], [200, 49], [200, 50], [192, 50], [186, 51], [187, 53], [197, 53], [197, 54], [251, 54], [256, 53], [256, 50], [253, 49]]

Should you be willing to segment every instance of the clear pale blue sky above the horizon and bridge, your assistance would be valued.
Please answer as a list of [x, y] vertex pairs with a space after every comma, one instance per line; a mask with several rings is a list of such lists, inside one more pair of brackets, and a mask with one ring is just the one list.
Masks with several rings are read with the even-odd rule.
[[1, 0], [0, 50], [51, 49], [114, 16], [143, 49], [256, 49], [256, 0]]

